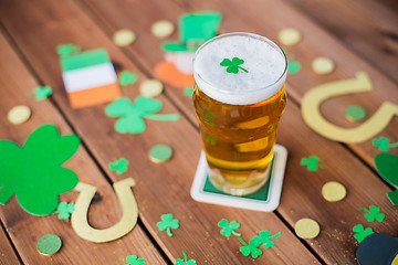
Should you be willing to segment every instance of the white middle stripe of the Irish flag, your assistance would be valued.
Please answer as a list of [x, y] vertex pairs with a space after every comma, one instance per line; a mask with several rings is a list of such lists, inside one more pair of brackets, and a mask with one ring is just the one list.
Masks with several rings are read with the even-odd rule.
[[117, 82], [117, 76], [111, 62], [64, 72], [62, 78], [69, 93]]

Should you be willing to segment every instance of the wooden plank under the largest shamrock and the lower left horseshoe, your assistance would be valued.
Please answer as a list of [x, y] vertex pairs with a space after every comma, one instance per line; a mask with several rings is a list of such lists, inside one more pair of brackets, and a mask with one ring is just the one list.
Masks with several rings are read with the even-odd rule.
[[[0, 139], [10, 139], [20, 145], [29, 134], [43, 124], [54, 124], [62, 135], [71, 134], [71, 128], [59, 114], [51, 100], [36, 102], [32, 89], [38, 86], [22, 64], [15, 52], [11, 49], [3, 35], [0, 35]], [[32, 109], [32, 117], [22, 125], [11, 125], [7, 120], [8, 110], [15, 105], [28, 105]], [[84, 147], [65, 163], [80, 177], [80, 181], [97, 187], [102, 200], [93, 202], [88, 212], [88, 222], [94, 227], [104, 229], [118, 222], [122, 216], [119, 202]], [[60, 197], [60, 201], [75, 201], [78, 193], [67, 192]], [[107, 264], [108, 262], [123, 264], [127, 255], [136, 254], [151, 264], [166, 264], [150, 240], [137, 225], [133, 232], [121, 240], [96, 244], [87, 242], [76, 235], [69, 221], [62, 221], [56, 215], [38, 218], [24, 212], [13, 197], [4, 206], [0, 206], [0, 216], [4, 223], [13, 244], [27, 264]], [[50, 257], [42, 256], [36, 251], [38, 240], [48, 234], [55, 233], [63, 241], [61, 251]], [[3, 247], [1, 247], [3, 250]], [[17, 264], [17, 263], [8, 263]]]

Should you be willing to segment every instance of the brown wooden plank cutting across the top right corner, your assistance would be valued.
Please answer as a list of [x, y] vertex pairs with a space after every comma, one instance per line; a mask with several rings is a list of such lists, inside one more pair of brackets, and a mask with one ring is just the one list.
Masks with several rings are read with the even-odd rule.
[[398, 83], [397, 10], [374, 0], [287, 1]]

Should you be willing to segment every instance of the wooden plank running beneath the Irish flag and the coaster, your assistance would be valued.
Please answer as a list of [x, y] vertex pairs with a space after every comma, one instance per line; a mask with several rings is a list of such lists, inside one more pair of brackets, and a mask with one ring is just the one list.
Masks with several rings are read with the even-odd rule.
[[[113, 129], [115, 119], [105, 117], [105, 105], [71, 109], [65, 98], [57, 56], [51, 52], [57, 44], [72, 42], [82, 45], [84, 50], [103, 46], [124, 68], [137, 72], [139, 82], [145, 77], [74, 2], [64, 2], [62, 7], [45, 0], [35, 1], [34, 4], [23, 2], [23, 6], [22, 2], [1, 3], [0, 12], [4, 18], [4, 26], [21, 46], [40, 77], [54, 88], [54, 100], [103, 168], [108, 172], [107, 163], [114, 157], [124, 156], [132, 161], [130, 173], [137, 180], [134, 192], [140, 218], [171, 261], [182, 257], [185, 251], [198, 264], [251, 264], [252, 258], [238, 253], [241, 244], [237, 239], [227, 240], [219, 234], [217, 223], [226, 218], [242, 223], [240, 232], [247, 241], [260, 230], [282, 232], [283, 236], [277, 244], [259, 257], [259, 263], [318, 263], [273, 213], [235, 210], [192, 201], [189, 187], [201, 147], [198, 131], [185, 118], [175, 124], [147, 121], [148, 128], [144, 134], [132, 136], [117, 134]], [[17, 17], [20, 19], [15, 20]], [[123, 94], [135, 98], [138, 91], [127, 87], [123, 89]], [[161, 113], [177, 112], [166, 97], [160, 96], [159, 99], [164, 103]], [[170, 145], [175, 155], [167, 163], [154, 165], [147, 158], [148, 150], [159, 142]], [[108, 173], [114, 181], [122, 178]], [[174, 231], [172, 237], [159, 232], [156, 225], [160, 221], [160, 215], [168, 212], [180, 220], [180, 229]]]

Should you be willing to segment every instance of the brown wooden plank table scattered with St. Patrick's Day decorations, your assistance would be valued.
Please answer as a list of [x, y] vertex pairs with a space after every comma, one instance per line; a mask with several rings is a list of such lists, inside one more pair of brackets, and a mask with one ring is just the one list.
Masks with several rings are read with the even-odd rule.
[[[105, 47], [112, 61], [138, 74], [139, 82], [154, 78], [154, 66], [164, 59], [159, 40], [150, 25], [157, 20], [177, 24], [179, 15], [189, 11], [217, 10], [223, 14], [220, 33], [255, 32], [277, 40], [283, 28], [301, 31], [302, 41], [289, 52], [302, 63], [302, 70], [287, 78], [289, 104], [277, 132], [277, 141], [289, 149], [289, 160], [281, 204], [264, 213], [199, 203], [189, 194], [201, 145], [191, 99], [181, 88], [166, 86], [158, 97], [161, 113], [180, 113], [169, 123], [147, 121], [140, 135], [122, 135], [114, 130], [114, 118], [106, 117], [106, 104], [72, 109], [62, 82], [56, 45], [75, 43], [83, 50]], [[92, 243], [78, 237], [69, 221], [56, 215], [33, 216], [24, 212], [15, 198], [0, 206], [0, 264], [125, 264], [128, 255], [144, 257], [146, 264], [174, 264], [186, 252], [198, 264], [356, 264], [357, 241], [352, 231], [356, 224], [371, 226], [375, 232], [397, 236], [398, 209], [386, 197], [395, 188], [377, 173], [374, 157], [379, 150], [371, 140], [341, 144], [328, 140], [304, 124], [300, 105], [312, 87], [353, 78], [365, 71], [374, 91], [331, 99], [322, 106], [324, 116], [342, 127], [355, 127], [344, 117], [347, 106], [356, 104], [371, 115], [385, 100], [398, 104], [398, 15], [395, 1], [324, 1], [324, 0], [2, 0], [0, 2], [0, 139], [20, 145], [42, 124], [54, 124], [65, 134], [77, 134], [82, 146], [66, 162], [80, 181], [97, 187], [102, 200], [90, 208], [88, 221], [97, 229], [112, 226], [122, 216], [112, 183], [133, 177], [133, 191], [139, 219], [135, 229], [109, 243]], [[119, 29], [133, 29], [134, 44], [118, 47], [112, 35]], [[178, 40], [175, 32], [166, 40]], [[336, 64], [329, 75], [316, 75], [311, 62], [328, 56]], [[138, 83], [139, 83], [138, 82]], [[138, 83], [123, 87], [123, 94], [135, 98]], [[54, 93], [38, 102], [30, 93], [34, 86], [50, 85]], [[28, 105], [32, 117], [22, 125], [7, 120], [8, 110]], [[398, 119], [378, 136], [398, 141]], [[377, 137], [378, 137], [377, 136]], [[172, 147], [172, 159], [155, 165], [148, 150], [156, 144]], [[397, 148], [398, 149], [398, 148]], [[398, 150], [391, 153], [398, 153]], [[316, 155], [325, 166], [308, 172], [300, 165], [302, 157]], [[113, 158], [130, 161], [127, 173], [109, 171]], [[1, 178], [1, 177], [0, 177]], [[327, 181], [338, 181], [347, 188], [341, 202], [327, 202], [321, 189]], [[61, 201], [75, 201], [78, 193], [61, 195]], [[358, 208], [377, 205], [386, 214], [381, 223], [369, 223]], [[156, 225], [160, 215], [172, 213], [180, 227], [169, 237]], [[316, 220], [321, 234], [314, 240], [301, 240], [294, 224], [302, 218]], [[239, 252], [235, 237], [220, 234], [221, 219], [235, 220], [239, 232], [248, 242], [262, 230], [281, 232], [275, 246], [264, 250], [253, 259]], [[63, 240], [61, 251], [42, 256], [36, 241], [55, 233]]]

